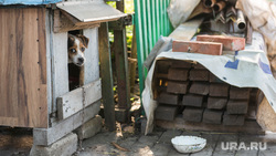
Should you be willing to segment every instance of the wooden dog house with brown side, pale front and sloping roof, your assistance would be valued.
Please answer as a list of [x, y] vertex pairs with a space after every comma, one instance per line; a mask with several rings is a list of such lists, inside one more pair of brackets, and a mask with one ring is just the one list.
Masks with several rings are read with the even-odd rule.
[[[98, 27], [126, 15], [103, 0], [59, 1], [0, 1], [0, 125], [33, 127], [35, 145], [54, 143], [98, 113]], [[89, 43], [84, 85], [70, 92], [73, 30]]]

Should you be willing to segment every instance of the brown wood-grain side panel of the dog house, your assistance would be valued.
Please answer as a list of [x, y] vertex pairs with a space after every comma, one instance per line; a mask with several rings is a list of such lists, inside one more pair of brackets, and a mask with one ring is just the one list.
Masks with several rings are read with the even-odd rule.
[[45, 9], [0, 14], [0, 124], [47, 127]]

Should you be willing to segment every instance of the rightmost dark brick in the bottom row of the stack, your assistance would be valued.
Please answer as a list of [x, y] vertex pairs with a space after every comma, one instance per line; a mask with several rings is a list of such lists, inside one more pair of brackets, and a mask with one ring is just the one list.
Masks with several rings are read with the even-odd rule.
[[230, 115], [224, 114], [223, 115], [223, 125], [226, 126], [242, 126], [244, 125], [244, 115]]

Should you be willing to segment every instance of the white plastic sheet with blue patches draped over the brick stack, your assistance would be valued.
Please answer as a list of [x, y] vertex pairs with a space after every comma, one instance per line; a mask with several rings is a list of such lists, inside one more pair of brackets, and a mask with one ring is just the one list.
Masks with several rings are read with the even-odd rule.
[[152, 132], [153, 128], [153, 112], [157, 102], [153, 100], [151, 82], [156, 61], [162, 59], [197, 61], [231, 85], [258, 87], [264, 92], [270, 106], [276, 112], [276, 81], [272, 75], [269, 62], [266, 58], [266, 45], [263, 35], [253, 32], [252, 45], [246, 45], [245, 50], [238, 52], [219, 56], [170, 51], [160, 53], [148, 72], [146, 87], [142, 92], [142, 104], [148, 119], [146, 134]]

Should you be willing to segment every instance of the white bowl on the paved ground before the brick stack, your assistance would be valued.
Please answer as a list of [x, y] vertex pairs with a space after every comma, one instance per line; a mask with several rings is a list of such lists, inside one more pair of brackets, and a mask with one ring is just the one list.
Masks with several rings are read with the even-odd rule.
[[205, 147], [206, 139], [197, 136], [176, 136], [171, 143], [179, 153], [195, 153]]

